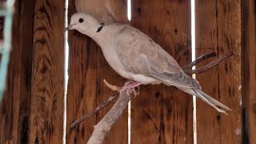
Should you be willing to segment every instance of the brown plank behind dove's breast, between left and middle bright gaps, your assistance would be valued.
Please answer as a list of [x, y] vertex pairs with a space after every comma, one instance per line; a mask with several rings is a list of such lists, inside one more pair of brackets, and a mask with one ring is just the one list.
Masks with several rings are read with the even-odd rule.
[[[89, 7], [104, 7], [98, 6], [97, 2], [91, 2]], [[111, 2], [111, 1], [110, 1]], [[116, 3], [118, 7], [126, 6]], [[87, 3], [88, 4], [88, 3]], [[95, 6], [95, 4], [97, 6]], [[102, 3], [100, 3], [102, 5]], [[74, 1], [69, 3], [69, 17], [75, 13]], [[88, 6], [88, 5], [87, 5]], [[89, 10], [90, 14], [105, 14], [100, 13], [101, 10]], [[104, 10], [102, 10], [104, 11]], [[85, 11], [83, 11], [85, 12]], [[87, 11], [86, 11], [87, 12]], [[120, 16], [122, 13], [115, 13]], [[104, 22], [104, 19], [102, 19]], [[117, 19], [118, 22], [124, 22], [123, 19]], [[89, 114], [96, 106], [101, 105], [103, 101], [109, 98], [111, 90], [107, 88], [103, 79], [108, 82], [122, 86], [125, 79], [121, 78], [110, 68], [102, 51], [97, 44], [86, 37], [79, 34], [75, 30], [69, 31], [70, 45], [70, 64], [69, 64], [69, 84], [67, 94], [67, 142], [68, 143], [85, 143], [90, 138], [93, 126], [106, 114], [110, 107], [100, 111], [98, 114], [90, 117], [85, 122], [79, 124], [74, 130], [70, 130], [70, 124], [75, 118], [80, 118], [82, 115]], [[113, 129], [106, 138], [105, 143], [127, 143], [128, 142], [128, 126], [127, 126], [127, 110], [122, 115], [122, 118], [114, 124]]]

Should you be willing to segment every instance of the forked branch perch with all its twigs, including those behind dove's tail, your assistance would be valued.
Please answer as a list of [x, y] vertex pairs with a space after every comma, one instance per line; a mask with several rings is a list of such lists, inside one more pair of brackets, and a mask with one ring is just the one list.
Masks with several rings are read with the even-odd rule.
[[[230, 58], [233, 54], [233, 51], [231, 51], [227, 54], [224, 54], [222, 57], [214, 60], [213, 62], [210, 62], [206, 66], [202, 66], [201, 68], [198, 68], [196, 70], [191, 70], [192, 67], [197, 65], [199, 62], [216, 56], [215, 53], [204, 54], [201, 57], [197, 58], [194, 62], [191, 62], [190, 64], [184, 66], [183, 70], [186, 72], [186, 74], [200, 74], [203, 71], [209, 70], [210, 68], [216, 66], [219, 62], [222, 62], [226, 58]], [[133, 91], [124, 90], [120, 92], [120, 87], [111, 85], [110, 83], [106, 82], [106, 80], [104, 80], [104, 83], [111, 90], [114, 90], [114, 92], [118, 92], [118, 94], [112, 94], [110, 98], [103, 102], [101, 106], [98, 106], [93, 112], [83, 116], [82, 118], [79, 118], [71, 124], [71, 127], [73, 128], [80, 122], [86, 120], [86, 118], [90, 118], [91, 115], [94, 115], [99, 110], [102, 110], [103, 107], [108, 105], [110, 102], [114, 100], [114, 98], [117, 98], [119, 96], [117, 102], [114, 103], [114, 106], [110, 109], [110, 111], [102, 118], [100, 122], [98, 122], [96, 126], [94, 126], [94, 132], [91, 135], [87, 144], [102, 144], [104, 138], [106, 138], [106, 134], [109, 133], [114, 122], [116, 122], [118, 118], [122, 115], [123, 110], [125, 110], [126, 106], [128, 105], [128, 102], [130, 102], [130, 100], [134, 98]]]

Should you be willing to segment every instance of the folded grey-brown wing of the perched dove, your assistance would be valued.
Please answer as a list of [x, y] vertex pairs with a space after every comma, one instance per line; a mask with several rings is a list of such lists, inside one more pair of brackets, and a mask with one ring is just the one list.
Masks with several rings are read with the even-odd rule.
[[170, 54], [136, 28], [123, 26], [115, 37], [115, 45], [120, 62], [133, 74], [157, 78], [167, 85], [201, 89]]

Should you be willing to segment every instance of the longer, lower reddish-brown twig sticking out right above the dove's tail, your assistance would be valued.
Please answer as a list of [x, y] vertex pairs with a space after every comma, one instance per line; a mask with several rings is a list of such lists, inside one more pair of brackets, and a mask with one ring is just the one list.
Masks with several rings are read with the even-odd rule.
[[[202, 67], [200, 67], [200, 68], [198, 68], [196, 70], [184, 69], [184, 72], [186, 74], [200, 74], [200, 73], [202, 73], [202, 72], [204, 72], [204, 71], [206, 71], [206, 70], [208, 70], [208, 69], [218, 65], [219, 62], [224, 61], [226, 58], [230, 58], [233, 54], [234, 54], [234, 52], [230, 51], [229, 53], [224, 54], [222, 57], [214, 60], [213, 62], [208, 63], [206, 66], [202, 66]], [[204, 57], [204, 56], [205, 55], [202, 55], [202, 57]], [[201, 57], [199, 57], [199, 58], [201, 58]], [[204, 60], [206, 58], [207, 57], [202, 58], [201, 60], [198, 60], [198, 62], [201, 62], [202, 60]], [[195, 61], [197, 61], [197, 59]], [[194, 61], [194, 63], [196, 63], [195, 61]], [[190, 63], [189, 65], [192, 66], [193, 65], [192, 63]], [[185, 66], [185, 67], [189, 68], [190, 66]]]

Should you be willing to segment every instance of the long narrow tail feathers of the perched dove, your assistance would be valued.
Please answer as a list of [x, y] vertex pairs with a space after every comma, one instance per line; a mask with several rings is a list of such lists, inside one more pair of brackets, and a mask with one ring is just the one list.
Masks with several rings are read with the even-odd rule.
[[[197, 96], [198, 98], [202, 99], [202, 101], [206, 102], [210, 106], [213, 106], [214, 109], [220, 113], [226, 114], [225, 110], [232, 111], [229, 107], [223, 105], [221, 102], [218, 102], [214, 98], [211, 98], [210, 95], [204, 93], [202, 90], [188, 89], [188, 88], [183, 88], [183, 87], [178, 87], [178, 89], [183, 90], [188, 94]], [[217, 106], [219, 106], [221, 109], [219, 109]]]

